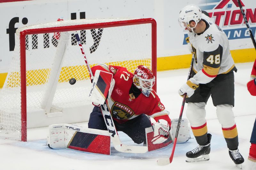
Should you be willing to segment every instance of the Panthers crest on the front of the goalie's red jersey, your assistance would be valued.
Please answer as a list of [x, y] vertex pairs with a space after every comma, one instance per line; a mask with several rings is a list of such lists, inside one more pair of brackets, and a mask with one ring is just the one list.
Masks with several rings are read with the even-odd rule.
[[113, 118], [119, 120], [129, 119], [134, 115], [132, 109], [122, 103], [115, 102], [111, 108], [111, 115]]

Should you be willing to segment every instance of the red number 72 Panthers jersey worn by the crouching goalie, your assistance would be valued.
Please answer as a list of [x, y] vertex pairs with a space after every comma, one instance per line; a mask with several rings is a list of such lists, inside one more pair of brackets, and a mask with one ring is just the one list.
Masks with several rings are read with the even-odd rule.
[[[171, 125], [171, 120], [168, 116], [169, 112], [165, 110], [156, 92], [150, 90], [148, 94], [147, 92], [143, 93], [143, 89], [141, 91], [134, 86], [136, 77], [134, 78], [133, 74], [126, 68], [101, 64], [92, 67], [93, 75], [96, 70], [110, 72], [113, 74], [113, 79], [115, 79], [115, 86], [111, 96], [108, 97], [108, 106], [116, 122], [123, 123], [141, 114], [145, 114], [153, 117], [156, 122], [164, 119], [168, 122], [169, 126]], [[146, 82], [145, 84], [149, 83]]]

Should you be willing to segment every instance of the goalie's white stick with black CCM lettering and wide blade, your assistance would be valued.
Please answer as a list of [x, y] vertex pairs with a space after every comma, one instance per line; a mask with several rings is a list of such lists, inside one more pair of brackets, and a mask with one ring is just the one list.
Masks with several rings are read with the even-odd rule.
[[[87, 66], [87, 69], [89, 71], [89, 74], [91, 76], [91, 79], [93, 80], [93, 75], [92, 75], [92, 70], [90, 68], [90, 65], [87, 61], [87, 58], [85, 56], [85, 53], [84, 53], [84, 48], [81, 44], [81, 40], [80, 40], [80, 37], [78, 35], [78, 33], [75, 34], [75, 37], [76, 37], [76, 41], [81, 49], [81, 52], [82, 52], [82, 55], [84, 57], [84, 61], [86, 63], [86, 66]], [[148, 147], [147, 146], [131, 146], [131, 145], [125, 145], [125, 144], [122, 144], [118, 134], [117, 134], [117, 131], [116, 131], [116, 127], [115, 127], [115, 124], [114, 124], [114, 121], [112, 119], [112, 116], [110, 114], [110, 111], [109, 111], [109, 108], [108, 108], [108, 105], [107, 103], [105, 102], [103, 105], [100, 106], [100, 110], [101, 110], [101, 113], [104, 117], [104, 121], [105, 121], [105, 124], [108, 128], [108, 132], [110, 134], [110, 138], [112, 139], [112, 143], [115, 147], [115, 149], [119, 152], [127, 152], [127, 153], [146, 153], [148, 152]]]

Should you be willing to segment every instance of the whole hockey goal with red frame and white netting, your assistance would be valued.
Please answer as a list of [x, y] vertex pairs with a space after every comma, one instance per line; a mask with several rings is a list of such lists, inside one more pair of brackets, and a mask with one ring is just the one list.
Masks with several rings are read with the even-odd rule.
[[[105, 63], [133, 73], [142, 64], [156, 76], [153, 18], [65, 20], [19, 28], [0, 91], [1, 138], [27, 141], [27, 128], [82, 122], [79, 116], [91, 112], [91, 82], [75, 31], [91, 67]], [[70, 78], [76, 78], [75, 85], [68, 83]]]

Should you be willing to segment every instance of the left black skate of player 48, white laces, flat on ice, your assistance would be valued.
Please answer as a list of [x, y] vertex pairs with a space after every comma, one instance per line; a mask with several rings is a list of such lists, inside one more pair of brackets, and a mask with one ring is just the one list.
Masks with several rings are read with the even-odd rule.
[[186, 162], [198, 162], [198, 161], [206, 161], [209, 160], [209, 153], [211, 151], [211, 138], [212, 135], [210, 133], [207, 134], [208, 142], [204, 145], [198, 145], [195, 149], [186, 153], [187, 160]]

